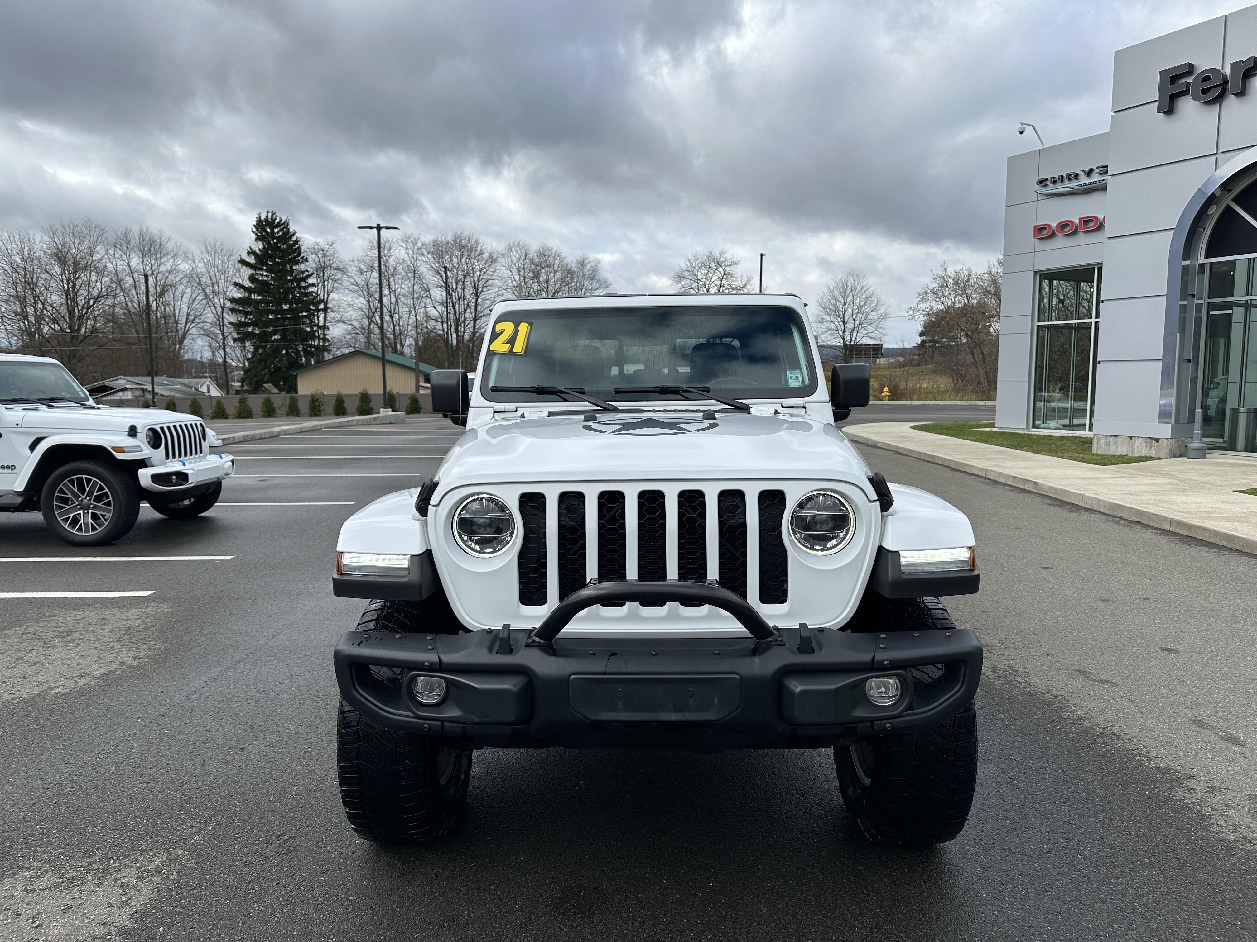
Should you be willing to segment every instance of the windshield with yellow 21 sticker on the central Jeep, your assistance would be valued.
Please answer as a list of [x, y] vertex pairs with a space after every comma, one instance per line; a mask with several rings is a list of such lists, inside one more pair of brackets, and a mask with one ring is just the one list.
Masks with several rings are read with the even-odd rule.
[[490, 389], [559, 386], [603, 399], [676, 402], [647, 388], [698, 386], [737, 398], [801, 398], [816, 389], [808, 350], [802, 319], [783, 306], [509, 311], [490, 328], [481, 393], [490, 402], [519, 402], [532, 397]]

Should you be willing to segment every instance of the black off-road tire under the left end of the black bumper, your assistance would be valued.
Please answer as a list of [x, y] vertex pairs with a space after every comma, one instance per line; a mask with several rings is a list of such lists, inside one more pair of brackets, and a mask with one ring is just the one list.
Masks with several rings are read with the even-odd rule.
[[[453, 627], [440, 617], [447, 608], [444, 597], [426, 602], [377, 599], [367, 605], [357, 629], [453, 633]], [[385, 682], [401, 683], [401, 671], [378, 669]], [[470, 749], [378, 726], [343, 700], [336, 757], [344, 815], [354, 834], [365, 840], [377, 844], [437, 840], [454, 826], [466, 801]]]

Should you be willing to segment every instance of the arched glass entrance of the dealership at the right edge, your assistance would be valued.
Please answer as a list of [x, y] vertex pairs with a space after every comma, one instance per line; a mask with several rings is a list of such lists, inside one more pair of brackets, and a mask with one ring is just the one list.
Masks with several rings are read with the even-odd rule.
[[1205, 214], [1198, 261], [1183, 268], [1180, 296], [1195, 301], [1180, 305], [1179, 333], [1194, 354], [1182, 421], [1199, 408], [1212, 447], [1257, 451], [1257, 178]]

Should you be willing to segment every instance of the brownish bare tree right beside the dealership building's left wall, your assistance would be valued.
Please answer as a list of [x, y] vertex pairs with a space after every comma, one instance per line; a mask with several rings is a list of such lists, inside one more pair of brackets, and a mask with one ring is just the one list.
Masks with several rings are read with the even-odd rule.
[[920, 322], [925, 360], [943, 367], [953, 386], [984, 398], [996, 392], [1002, 274], [1003, 259], [983, 271], [944, 264], [908, 309]]

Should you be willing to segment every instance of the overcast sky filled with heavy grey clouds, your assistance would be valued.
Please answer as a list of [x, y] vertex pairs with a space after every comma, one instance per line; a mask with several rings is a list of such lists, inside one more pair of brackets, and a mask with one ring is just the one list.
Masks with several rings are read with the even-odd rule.
[[804, 300], [861, 269], [901, 315], [999, 252], [1019, 119], [1106, 131], [1115, 49], [1236, 5], [3, 0], [0, 227], [465, 229], [620, 291], [727, 247]]

